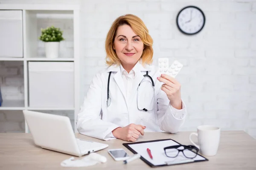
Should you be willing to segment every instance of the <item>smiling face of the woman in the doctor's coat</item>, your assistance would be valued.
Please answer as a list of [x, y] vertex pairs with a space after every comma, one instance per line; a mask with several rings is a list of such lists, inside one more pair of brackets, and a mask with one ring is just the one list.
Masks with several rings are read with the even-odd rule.
[[122, 25], [117, 28], [113, 48], [123, 67], [134, 66], [143, 53], [144, 44], [130, 26]]

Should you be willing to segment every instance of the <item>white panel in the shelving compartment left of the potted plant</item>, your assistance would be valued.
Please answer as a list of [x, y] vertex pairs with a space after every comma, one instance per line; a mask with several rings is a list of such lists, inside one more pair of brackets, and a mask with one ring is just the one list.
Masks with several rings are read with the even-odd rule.
[[0, 57], [23, 57], [22, 10], [0, 10]]

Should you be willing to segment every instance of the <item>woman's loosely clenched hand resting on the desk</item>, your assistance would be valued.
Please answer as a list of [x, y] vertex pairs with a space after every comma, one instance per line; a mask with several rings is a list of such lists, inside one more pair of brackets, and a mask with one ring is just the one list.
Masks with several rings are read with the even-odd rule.
[[131, 123], [125, 127], [117, 127], [112, 131], [113, 136], [124, 141], [135, 142], [140, 135], [144, 135], [144, 129], [146, 127], [143, 125], [135, 125]]

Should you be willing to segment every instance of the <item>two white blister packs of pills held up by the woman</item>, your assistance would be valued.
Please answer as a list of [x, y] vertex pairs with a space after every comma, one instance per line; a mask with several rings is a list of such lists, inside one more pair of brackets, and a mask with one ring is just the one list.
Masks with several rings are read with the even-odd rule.
[[175, 60], [172, 65], [169, 67], [169, 59], [168, 58], [159, 58], [158, 59], [158, 69], [160, 74], [167, 74], [173, 78], [177, 76], [180, 72], [180, 69], [183, 65]]

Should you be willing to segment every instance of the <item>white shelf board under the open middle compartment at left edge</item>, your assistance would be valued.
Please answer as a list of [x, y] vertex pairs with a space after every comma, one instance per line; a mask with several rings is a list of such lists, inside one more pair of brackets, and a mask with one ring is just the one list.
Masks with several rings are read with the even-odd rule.
[[0, 110], [24, 110], [24, 100], [4, 100]]

